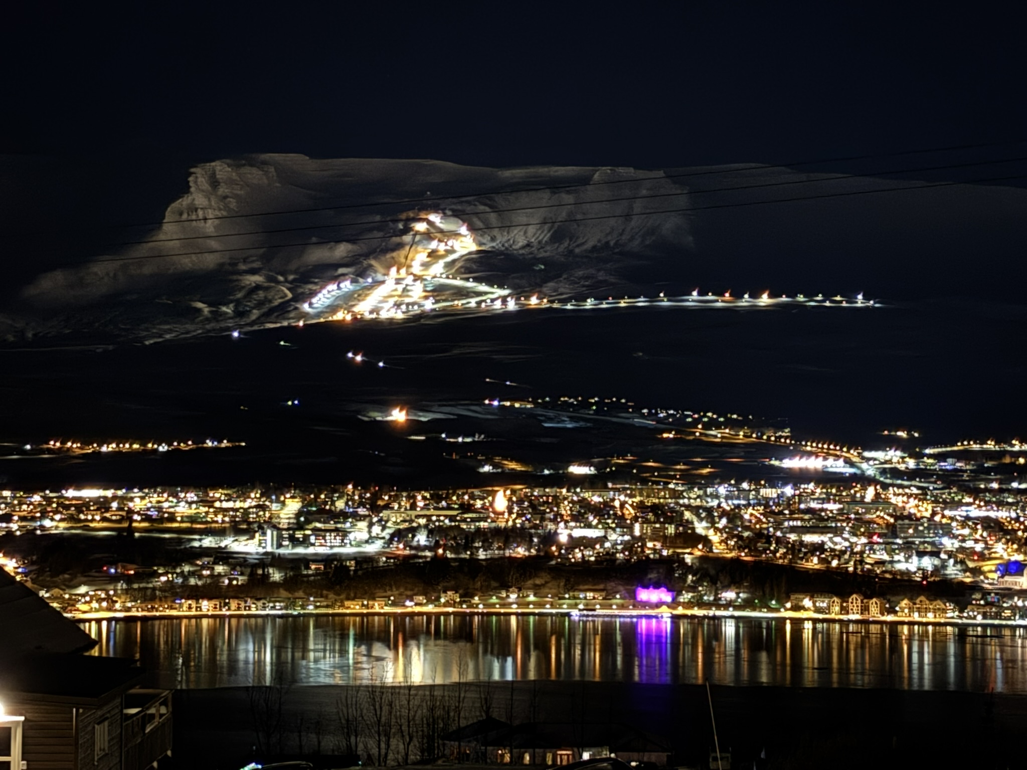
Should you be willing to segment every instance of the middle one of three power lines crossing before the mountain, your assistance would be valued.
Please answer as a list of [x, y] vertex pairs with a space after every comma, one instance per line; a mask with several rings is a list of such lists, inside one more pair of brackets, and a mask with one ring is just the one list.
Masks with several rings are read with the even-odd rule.
[[[982, 160], [975, 161], [972, 163], [950, 163], [947, 165], [935, 165], [935, 166], [919, 166], [915, 168], [899, 168], [890, 171], [875, 171], [871, 177], [887, 177], [896, 174], [920, 174], [924, 171], [941, 171], [941, 170], [952, 170], [955, 168], [971, 168], [982, 165], [995, 165], [998, 163], [1018, 163], [1027, 160], [1027, 155], [1022, 155], [1016, 158], [1005, 158], [999, 160]], [[654, 178], [658, 179], [658, 178]], [[740, 185], [736, 187], [715, 187], [708, 190], [677, 190], [675, 192], [668, 193], [653, 193], [646, 195], [626, 195], [619, 198], [604, 198], [602, 200], [580, 200], [580, 201], [567, 201], [562, 203], [542, 203], [538, 205], [531, 206], [516, 206], [511, 208], [494, 208], [488, 211], [469, 211], [466, 217], [472, 217], [477, 214], [514, 214], [518, 211], [533, 211], [545, 208], [562, 208], [566, 206], [578, 206], [578, 205], [597, 205], [599, 203], [621, 203], [632, 200], [648, 200], [655, 198], [670, 198], [679, 197], [682, 195], [705, 195], [709, 193], [717, 192], [731, 192], [734, 190], [757, 190], [768, 187], [788, 187], [794, 185], [812, 185], [825, 182], [838, 182], [841, 180], [852, 180], [860, 179], [857, 177], [851, 177], [848, 175], [839, 175], [835, 177], [826, 177], [823, 179], [800, 179], [800, 180], [786, 180], [784, 182], [762, 182], [756, 185]], [[469, 196], [468, 196], [469, 197]], [[221, 233], [214, 235], [185, 235], [181, 237], [168, 237], [168, 238], [151, 238], [147, 240], [128, 240], [120, 243], [109, 243], [103, 248], [117, 248], [120, 246], [130, 246], [130, 245], [149, 245], [150, 243], [168, 243], [172, 241], [186, 241], [186, 240], [212, 240], [218, 238], [241, 238], [248, 235], [274, 235], [278, 233], [292, 233], [292, 232], [303, 232], [308, 230], [332, 230], [338, 228], [346, 227], [365, 227], [371, 225], [402, 225], [409, 222], [410, 218], [400, 218], [390, 220], [365, 220], [363, 222], [344, 222], [335, 225], [303, 225], [301, 227], [283, 227], [275, 228], [273, 230], [249, 230], [241, 233]]]

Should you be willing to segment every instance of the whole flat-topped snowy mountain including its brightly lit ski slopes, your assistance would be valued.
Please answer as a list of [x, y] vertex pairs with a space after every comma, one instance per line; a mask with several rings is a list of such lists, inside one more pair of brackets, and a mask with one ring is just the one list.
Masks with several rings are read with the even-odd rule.
[[[500, 300], [506, 307], [533, 295], [656, 293], [665, 281], [678, 292], [701, 284], [753, 297], [773, 288], [990, 298], [984, 266], [1019, 251], [1027, 191], [926, 179], [942, 184], [923, 190], [909, 174], [751, 164], [496, 169], [283, 154], [218, 160], [192, 169], [188, 192], [161, 223], [122, 231], [91, 261], [38, 274], [16, 311], [0, 315], [0, 340], [153, 342], [317, 320], [354, 306], [372, 310], [354, 316], [391, 319], [432, 295], [433, 277], [448, 281], [435, 307], [448, 305], [453, 316], [471, 302], [498, 309]], [[752, 205], [781, 200], [792, 202]], [[439, 223], [449, 224], [440, 232]], [[464, 225], [470, 247], [446, 243], [463, 238]], [[443, 251], [418, 240], [416, 227], [438, 235]], [[430, 271], [438, 264], [445, 276]], [[476, 294], [471, 284], [498, 288]]]

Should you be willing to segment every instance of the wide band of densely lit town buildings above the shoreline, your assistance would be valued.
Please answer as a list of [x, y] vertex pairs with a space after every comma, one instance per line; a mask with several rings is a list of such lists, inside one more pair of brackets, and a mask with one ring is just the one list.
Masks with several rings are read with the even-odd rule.
[[[960, 612], [973, 604], [975, 617], [997, 612], [1019, 618], [1027, 612], [1019, 559], [1027, 551], [1025, 515], [1024, 499], [1012, 489], [928, 489], [848, 477], [453, 490], [8, 490], [0, 492], [6, 533], [0, 564], [36, 581], [70, 612], [198, 612], [216, 605], [216, 611], [271, 610], [279, 604], [328, 609], [352, 601], [400, 606], [421, 596], [421, 604], [455, 605], [443, 598], [447, 591], [485, 606], [500, 589], [505, 601], [516, 601], [505, 591], [521, 586], [510, 580], [472, 589], [471, 583], [429, 581], [382, 591], [373, 571], [429, 560], [534, 557], [582, 568], [654, 560], [679, 565], [668, 574], [677, 581], [677, 602], [690, 608], [781, 611], [789, 604], [793, 611], [878, 617], [900, 613], [903, 601], [915, 604], [920, 593], [930, 596], [937, 592], [931, 586], [944, 584]], [[93, 563], [82, 555], [63, 575], [49, 574], [54, 563], [23, 553], [20, 544], [56, 533], [159, 535], [160, 542], [174, 543], [168, 552], [176, 559], [137, 564], [111, 555]], [[805, 571], [814, 576], [807, 583], [823, 587], [797, 596], [762, 578], [717, 584], [694, 567], [695, 560], [711, 559]], [[436, 569], [432, 579], [444, 572]], [[832, 575], [911, 585], [878, 595], [852, 584], [845, 592], [832, 587]], [[575, 580], [573, 588], [524, 587], [540, 599], [587, 594], [611, 606], [635, 589], [605, 579]], [[912, 608], [907, 616], [942, 614]]]

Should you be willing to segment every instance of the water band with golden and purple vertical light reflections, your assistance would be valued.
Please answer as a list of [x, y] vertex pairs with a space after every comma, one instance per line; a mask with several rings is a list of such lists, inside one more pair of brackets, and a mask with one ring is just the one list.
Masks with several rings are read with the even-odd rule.
[[85, 624], [162, 687], [589, 680], [1027, 693], [1022, 628], [749, 618], [402, 615]]

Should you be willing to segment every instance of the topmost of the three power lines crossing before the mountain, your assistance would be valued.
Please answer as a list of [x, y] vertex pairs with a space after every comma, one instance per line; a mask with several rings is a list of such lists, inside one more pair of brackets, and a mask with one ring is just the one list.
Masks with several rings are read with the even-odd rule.
[[[480, 193], [462, 193], [459, 195], [438, 195], [438, 196], [425, 196], [422, 198], [401, 198], [395, 200], [381, 200], [372, 201], [368, 203], [347, 203], [344, 205], [334, 205], [334, 206], [316, 206], [312, 208], [293, 208], [284, 209], [280, 211], [260, 211], [256, 214], [225, 214], [219, 215], [218, 217], [204, 217], [202, 219], [182, 219], [182, 220], [166, 220], [161, 222], [144, 222], [136, 225], [114, 225], [113, 228], [116, 229], [130, 229], [136, 227], [159, 227], [161, 225], [181, 225], [190, 224], [198, 222], [219, 222], [221, 220], [235, 220], [235, 219], [248, 219], [253, 217], [275, 217], [279, 215], [287, 214], [313, 214], [317, 211], [337, 211], [346, 210], [351, 208], [368, 208], [371, 206], [382, 206], [382, 205], [405, 205], [409, 203], [426, 203], [426, 202], [436, 202], [442, 200], [460, 200], [462, 198], [472, 198], [472, 197], [484, 197], [486, 195], [511, 195], [518, 193], [526, 192], [544, 192], [546, 190], [569, 190], [578, 187], [598, 187], [600, 185], [622, 185], [636, 182], [648, 182], [654, 179], [690, 179], [693, 177], [706, 177], [713, 174], [738, 174], [741, 171], [753, 171], [753, 170], [766, 170], [772, 168], [794, 168], [795, 166], [803, 165], [822, 165], [824, 163], [846, 163], [853, 162], [858, 160], [870, 160], [872, 158], [897, 158], [906, 155], [923, 155], [935, 152], [956, 152], [959, 150], [980, 150], [989, 147], [1007, 147], [1010, 145], [1020, 145], [1024, 144], [1027, 140], [1014, 140], [1011, 142], [986, 142], [981, 144], [968, 144], [968, 145], [950, 145], [948, 147], [933, 147], [919, 150], [903, 150], [901, 152], [890, 152], [890, 153], [874, 153], [867, 155], [848, 155], [835, 158], [821, 158], [819, 160], [797, 160], [790, 163], [774, 163], [772, 165], [763, 165], [755, 163], [752, 165], [747, 165], [739, 168], [712, 168], [705, 171], [688, 171], [683, 174], [670, 174], [663, 175], [661, 177], [646, 177], [641, 179], [618, 179], [618, 180], [607, 180], [605, 182], [582, 182], [575, 183], [571, 185], [546, 185], [542, 187], [527, 187], [521, 189], [507, 189], [507, 190], [493, 190], [489, 192]], [[600, 168], [601, 170], [602, 168]]]

